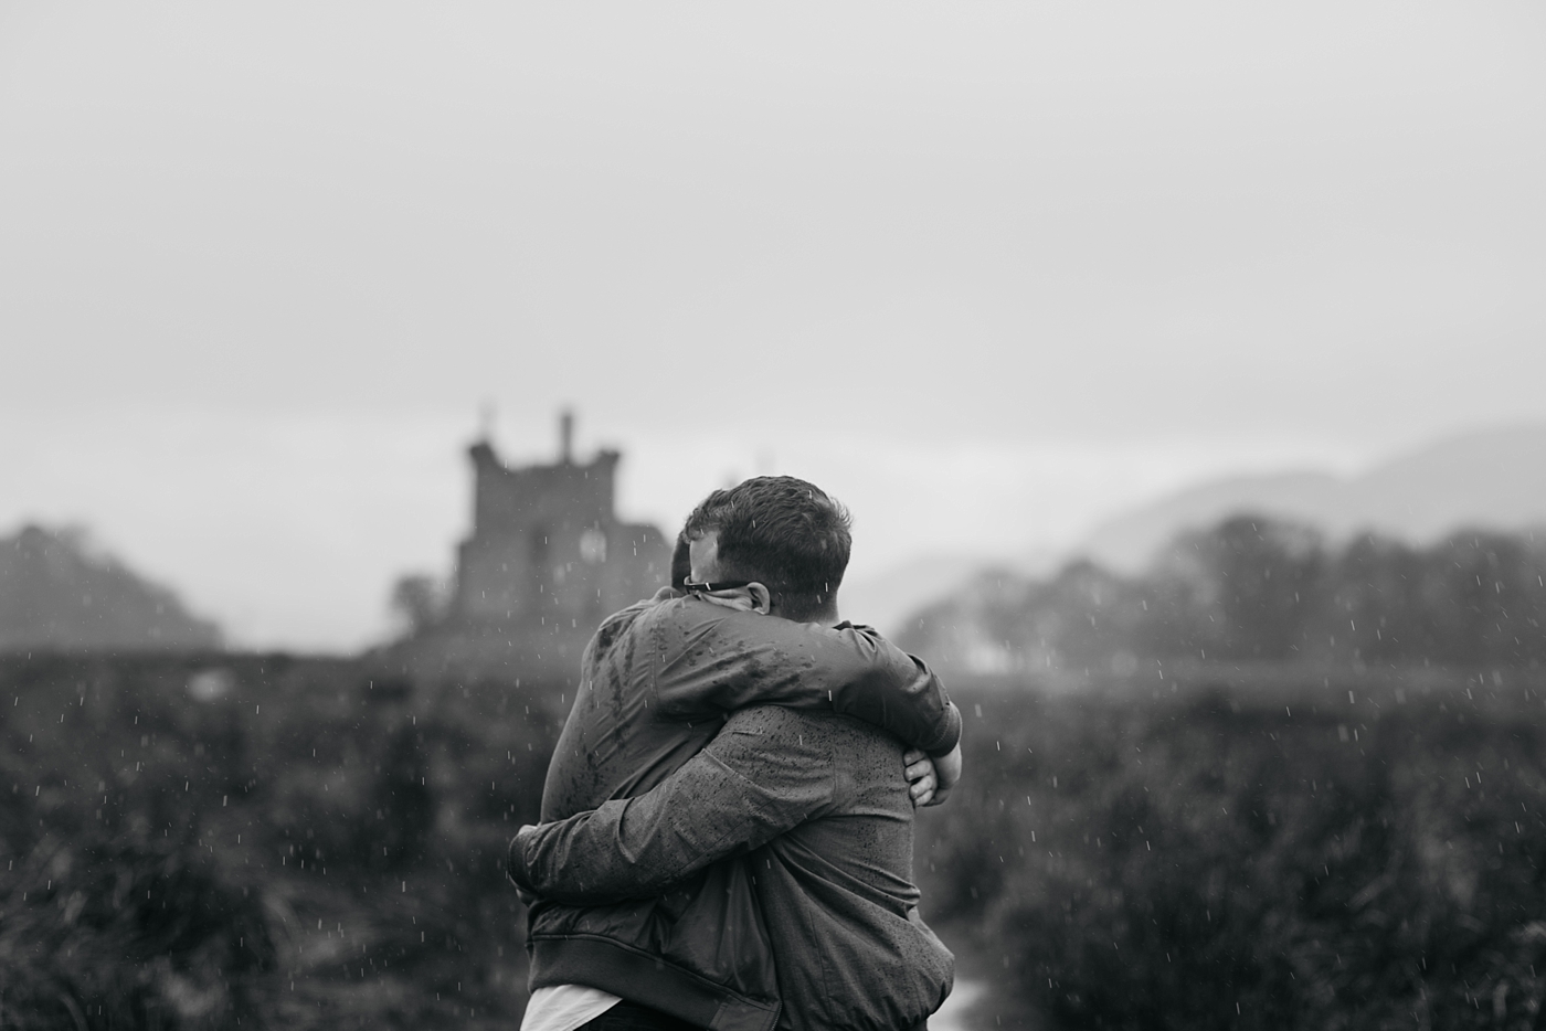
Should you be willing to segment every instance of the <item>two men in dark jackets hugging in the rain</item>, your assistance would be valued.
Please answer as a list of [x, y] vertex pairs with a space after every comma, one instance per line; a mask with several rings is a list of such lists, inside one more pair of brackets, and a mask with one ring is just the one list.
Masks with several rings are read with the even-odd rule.
[[954, 957], [918, 917], [915, 805], [960, 778], [929, 668], [839, 621], [849, 516], [759, 476], [688, 516], [609, 617], [510, 842], [523, 1031], [912, 1031]]

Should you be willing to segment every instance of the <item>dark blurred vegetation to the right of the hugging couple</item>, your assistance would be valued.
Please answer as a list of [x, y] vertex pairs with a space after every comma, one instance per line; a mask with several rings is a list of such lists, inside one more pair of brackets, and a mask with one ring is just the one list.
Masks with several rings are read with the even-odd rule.
[[918, 819], [976, 1026], [1546, 1023], [1538, 671], [1022, 688]]

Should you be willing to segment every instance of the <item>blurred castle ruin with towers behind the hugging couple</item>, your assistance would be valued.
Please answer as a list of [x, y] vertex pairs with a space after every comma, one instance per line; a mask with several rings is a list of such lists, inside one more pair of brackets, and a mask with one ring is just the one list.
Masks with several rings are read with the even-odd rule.
[[621, 454], [577, 461], [569, 413], [550, 465], [509, 467], [487, 434], [467, 453], [473, 526], [450, 598], [388, 655], [417, 675], [570, 677], [606, 615], [669, 583], [671, 547], [659, 529], [617, 518]]

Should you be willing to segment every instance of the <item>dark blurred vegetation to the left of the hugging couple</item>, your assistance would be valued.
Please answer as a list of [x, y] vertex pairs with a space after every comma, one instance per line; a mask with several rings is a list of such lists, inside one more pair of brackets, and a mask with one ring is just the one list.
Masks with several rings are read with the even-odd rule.
[[0, 1028], [510, 1028], [564, 685], [0, 658]]

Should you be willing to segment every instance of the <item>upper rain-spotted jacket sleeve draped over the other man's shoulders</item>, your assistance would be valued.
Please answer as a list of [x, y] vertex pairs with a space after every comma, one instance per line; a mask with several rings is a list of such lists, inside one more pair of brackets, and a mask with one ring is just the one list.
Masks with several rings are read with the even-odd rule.
[[934, 671], [867, 626], [795, 623], [693, 598], [657, 612], [654, 680], [668, 719], [773, 703], [853, 716], [934, 756], [960, 740], [960, 713]]

